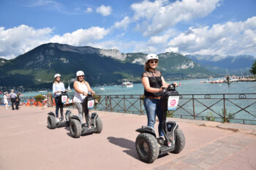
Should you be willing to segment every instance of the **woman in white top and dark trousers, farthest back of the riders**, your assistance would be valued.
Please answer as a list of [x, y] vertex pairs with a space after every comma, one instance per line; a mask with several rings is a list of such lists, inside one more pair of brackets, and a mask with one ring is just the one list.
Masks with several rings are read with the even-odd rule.
[[62, 102], [59, 102], [59, 100], [61, 100], [59, 96], [61, 95], [61, 92], [67, 91], [67, 90], [65, 90], [64, 83], [61, 82], [61, 74], [55, 74], [54, 80], [55, 81], [53, 82], [53, 96], [56, 104], [55, 114], [56, 114], [56, 122], [59, 122], [59, 109], [61, 110], [61, 121], [64, 120], [64, 116], [63, 116], [64, 104], [62, 104]]

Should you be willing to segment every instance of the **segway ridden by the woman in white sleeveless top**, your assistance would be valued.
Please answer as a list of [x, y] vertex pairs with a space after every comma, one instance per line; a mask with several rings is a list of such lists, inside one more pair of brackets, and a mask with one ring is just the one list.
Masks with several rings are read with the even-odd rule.
[[80, 123], [80, 119], [77, 115], [70, 117], [69, 129], [71, 136], [74, 138], [79, 138], [80, 136], [85, 136], [87, 134], [99, 134], [102, 131], [102, 120], [99, 115], [94, 112], [89, 115], [89, 109], [94, 107], [94, 97], [89, 92], [88, 96], [83, 99], [83, 110], [86, 117], [86, 123]]

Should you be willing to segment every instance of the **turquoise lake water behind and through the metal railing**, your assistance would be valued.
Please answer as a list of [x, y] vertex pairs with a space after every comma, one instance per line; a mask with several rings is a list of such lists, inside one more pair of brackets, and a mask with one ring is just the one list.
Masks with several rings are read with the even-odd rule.
[[[215, 121], [222, 121], [222, 109], [225, 105], [225, 109], [227, 109], [228, 113], [233, 114], [232, 120], [233, 123], [245, 123], [245, 124], [256, 124], [256, 82], [232, 82], [230, 85], [227, 83], [200, 83], [202, 81], [206, 81], [204, 79], [196, 79], [196, 80], [180, 80], [176, 81], [178, 84], [181, 84], [176, 90], [182, 96], [182, 99], [179, 101], [179, 105], [183, 106], [175, 112], [175, 117], [183, 117], [183, 118], [193, 118], [193, 114], [197, 115], [196, 119], [204, 119], [212, 115], [214, 117], [219, 117], [215, 119]], [[169, 82], [170, 83], [170, 82]], [[67, 87], [66, 87], [67, 88]], [[98, 95], [142, 95], [143, 94], [143, 85], [141, 83], [135, 83], [133, 88], [125, 88], [121, 85], [111, 85], [104, 86], [105, 90], [101, 90], [99, 87], [92, 87], [92, 89]], [[49, 90], [51, 92], [51, 90]], [[222, 100], [223, 93], [236, 93], [236, 95], [225, 95], [225, 101]], [[246, 96], [241, 96], [243, 93], [255, 93], [255, 94], [247, 94]], [[36, 96], [37, 94], [47, 94], [42, 92], [33, 92], [33, 93], [23, 93], [23, 96]], [[74, 90], [68, 93], [69, 96], [73, 96]], [[189, 95], [187, 95], [189, 94]], [[195, 100], [193, 101], [192, 95], [194, 94]], [[201, 95], [200, 95], [201, 94]], [[205, 94], [211, 94], [211, 99], [206, 99]], [[219, 94], [219, 95], [214, 95]], [[239, 99], [239, 97], [245, 97], [245, 99]], [[116, 112], [119, 112], [121, 107], [124, 107], [124, 102], [121, 101], [121, 98], [112, 98], [112, 104], [117, 104], [120, 102], [120, 107], [115, 107]], [[137, 99], [129, 99], [131, 103]], [[105, 109], [106, 104], [103, 101], [102, 109]], [[109, 101], [108, 101], [109, 102]], [[126, 107], [130, 108], [129, 112], [136, 111], [138, 113], [138, 109], [132, 108], [132, 104], [127, 102]], [[255, 103], [255, 104], [254, 104]], [[108, 103], [109, 105], [109, 103]], [[135, 107], [140, 108], [140, 102], [137, 101]], [[251, 105], [251, 106], [249, 106]], [[194, 106], [194, 108], [193, 108]], [[113, 106], [112, 106], [113, 107]], [[207, 109], [208, 107], [208, 109]], [[101, 109], [101, 108], [99, 108]], [[108, 108], [110, 110], [110, 108]], [[143, 114], [145, 114], [145, 110], [143, 107]], [[242, 120], [236, 120], [242, 119]], [[255, 121], [251, 121], [255, 120]]]

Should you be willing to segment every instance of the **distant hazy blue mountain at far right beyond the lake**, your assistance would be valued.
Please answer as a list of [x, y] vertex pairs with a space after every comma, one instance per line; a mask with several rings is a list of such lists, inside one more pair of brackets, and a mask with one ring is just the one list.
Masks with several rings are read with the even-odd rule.
[[200, 63], [201, 66], [208, 69], [210, 72], [217, 74], [237, 74], [243, 75], [249, 72], [252, 64], [255, 62], [255, 57], [252, 55], [238, 55], [223, 58], [219, 55], [186, 55], [192, 61]]

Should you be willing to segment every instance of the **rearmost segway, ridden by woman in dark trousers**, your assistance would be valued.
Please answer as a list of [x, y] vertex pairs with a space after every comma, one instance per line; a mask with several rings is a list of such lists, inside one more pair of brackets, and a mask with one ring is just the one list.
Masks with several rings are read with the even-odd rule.
[[[59, 100], [59, 103], [64, 104], [67, 101], [67, 93], [62, 92], [61, 95], [59, 96], [61, 100]], [[72, 117], [72, 112], [68, 109], [65, 113], [65, 119], [64, 121], [59, 121], [56, 122], [56, 116], [53, 112], [48, 113], [48, 118], [47, 118], [47, 123], [48, 123], [48, 128], [54, 129], [54, 128], [61, 128], [64, 126], [69, 125], [69, 117]]]

